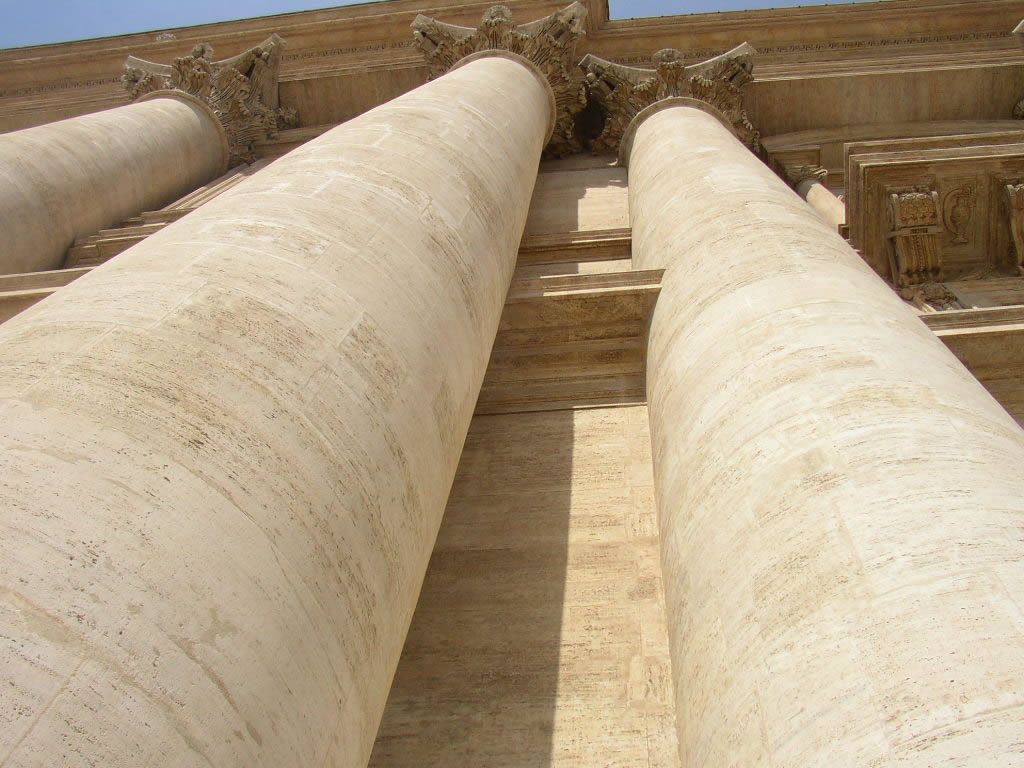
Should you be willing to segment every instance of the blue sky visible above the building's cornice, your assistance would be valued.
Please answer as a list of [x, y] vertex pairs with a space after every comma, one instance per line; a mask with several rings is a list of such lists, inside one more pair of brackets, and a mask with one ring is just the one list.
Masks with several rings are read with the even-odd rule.
[[[838, 1], [838, 0], [833, 0]], [[500, 0], [495, 0], [500, 2]], [[566, 0], [567, 4], [568, 0]], [[808, 0], [610, 0], [611, 17], [821, 4]], [[0, 0], [0, 48], [354, 5], [353, 0]], [[522, 19], [527, 20], [527, 19]]]

